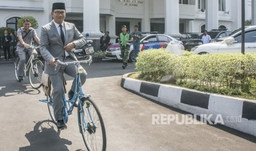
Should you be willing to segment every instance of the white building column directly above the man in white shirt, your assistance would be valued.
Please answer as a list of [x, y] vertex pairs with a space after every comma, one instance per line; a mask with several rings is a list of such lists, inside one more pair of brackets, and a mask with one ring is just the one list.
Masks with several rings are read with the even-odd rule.
[[218, 29], [219, 19], [219, 1], [206, 0], [205, 1], [205, 30]]

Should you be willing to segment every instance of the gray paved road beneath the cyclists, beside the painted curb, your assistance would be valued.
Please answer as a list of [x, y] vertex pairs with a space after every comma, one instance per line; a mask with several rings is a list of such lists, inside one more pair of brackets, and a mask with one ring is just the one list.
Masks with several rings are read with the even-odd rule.
[[[187, 114], [122, 89], [122, 63], [86, 66], [85, 91], [100, 108], [107, 132], [107, 150], [255, 150], [256, 138], [221, 125], [152, 125], [152, 114]], [[78, 130], [77, 109], [68, 129], [56, 131], [49, 120], [42, 90], [28, 78], [14, 80], [13, 64], [0, 62], [0, 150], [86, 150]], [[68, 88], [71, 80], [68, 78]]]

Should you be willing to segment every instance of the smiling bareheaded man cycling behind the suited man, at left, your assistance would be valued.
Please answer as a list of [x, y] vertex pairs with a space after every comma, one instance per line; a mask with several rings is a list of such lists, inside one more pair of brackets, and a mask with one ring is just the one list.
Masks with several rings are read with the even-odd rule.
[[17, 53], [20, 58], [18, 79], [19, 79], [19, 82], [21, 82], [23, 80], [23, 75], [24, 75], [26, 55], [29, 54], [30, 56], [32, 54], [32, 48], [28, 48], [28, 45], [32, 44], [32, 38], [34, 38], [38, 44], [40, 44], [40, 39], [39, 37], [37, 37], [35, 29], [31, 27], [31, 23], [29, 19], [24, 19], [23, 27], [18, 29], [17, 36], [18, 36]]

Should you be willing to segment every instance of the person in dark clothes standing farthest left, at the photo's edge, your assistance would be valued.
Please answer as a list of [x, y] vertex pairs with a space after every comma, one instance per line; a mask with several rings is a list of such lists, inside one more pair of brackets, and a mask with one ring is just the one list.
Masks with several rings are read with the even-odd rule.
[[2, 36], [2, 48], [4, 52], [4, 61], [7, 60], [7, 54], [8, 54], [8, 60], [10, 60], [10, 41], [12, 41], [12, 38], [8, 34], [8, 31], [4, 31], [4, 35]]

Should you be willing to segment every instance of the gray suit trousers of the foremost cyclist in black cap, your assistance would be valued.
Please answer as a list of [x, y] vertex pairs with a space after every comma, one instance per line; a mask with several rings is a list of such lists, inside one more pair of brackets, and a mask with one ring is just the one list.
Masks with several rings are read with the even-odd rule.
[[[74, 61], [71, 58], [64, 59], [63, 62], [71, 62]], [[59, 71], [56, 74], [49, 74], [52, 87], [53, 87], [53, 111], [55, 114], [56, 120], [63, 120], [63, 96], [64, 96], [64, 88], [63, 88], [63, 73], [66, 73], [70, 77], [75, 78], [77, 75], [77, 69], [75, 65], [58, 65], [61, 66]], [[80, 65], [79, 65], [80, 66]], [[83, 85], [86, 80], [86, 73], [80, 74], [81, 84]], [[75, 90], [75, 79], [73, 80], [72, 91]]]

